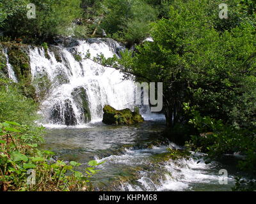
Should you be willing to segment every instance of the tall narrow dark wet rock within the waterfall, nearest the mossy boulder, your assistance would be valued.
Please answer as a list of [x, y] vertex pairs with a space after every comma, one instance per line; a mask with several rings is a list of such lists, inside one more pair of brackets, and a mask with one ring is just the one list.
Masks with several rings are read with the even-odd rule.
[[88, 96], [86, 94], [86, 90], [83, 87], [78, 87], [74, 89], [72, 92], [72, 96], [74, 98], [74, 102], [76, 106], [80, 108], [81, 115], [80, 119], [84, 122], [90, 122], [92, 117], [90, 113], [89, 103], [88, 103]]

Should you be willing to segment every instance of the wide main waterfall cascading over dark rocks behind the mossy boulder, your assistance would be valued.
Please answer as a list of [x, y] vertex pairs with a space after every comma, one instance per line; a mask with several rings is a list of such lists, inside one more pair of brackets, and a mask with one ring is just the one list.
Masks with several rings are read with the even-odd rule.
[[62, 41], [47, 50], [29, 47], [33, 81], [44, 78], [41, 86], [35, 83], [36, 92], [49, 89], [41, 105], [44, 124], [81, 125], [101, 120], [104, 105], [133, 108], [134, 82], [122, 80], [124, 76], [116, 69], [84, 59], [87, 50], [91, 57], [100, 53], [113, 57], [122, 49], [111, 39]]

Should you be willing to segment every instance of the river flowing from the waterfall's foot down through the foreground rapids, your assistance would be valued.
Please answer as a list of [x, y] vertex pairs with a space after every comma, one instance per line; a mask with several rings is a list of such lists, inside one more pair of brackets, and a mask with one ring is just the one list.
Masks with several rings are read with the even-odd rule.
[[[185, 159], [164, 159], [167, 148], [180, 149], [164, 138], [164, 120], [147, 120], [133, 126], [107, 126], [91, 122], [84, 126], [47, 128], [44, 149], [58, 159], [106, 161], [93, 176], [95, 191], [230, 191], [237, 175], [234, 158], [204, 163], [202, 154]], [[229, 162], [228, 162], [229, 161]], [[228, 171], [228, 184], [219, 183], [221, 169]], [[222, 178], [222, 177], [221, 177]]]

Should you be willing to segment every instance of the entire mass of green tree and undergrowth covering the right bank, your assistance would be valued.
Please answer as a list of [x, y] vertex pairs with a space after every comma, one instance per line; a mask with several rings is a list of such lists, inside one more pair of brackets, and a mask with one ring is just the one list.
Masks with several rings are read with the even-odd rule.
[[246, 159], [239, 166], [255, 173], [255, 4], [225, 1], [228, 18], [220, 19], [220, 3], [172, 1], [168, 16], [152, 25], [154, 42], [122, 59], [94, 60], [138, 82], [163, 82], [171, 140], [183, 136], [177, 141], [210, 157], [240, 152]]

